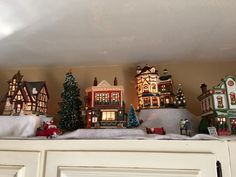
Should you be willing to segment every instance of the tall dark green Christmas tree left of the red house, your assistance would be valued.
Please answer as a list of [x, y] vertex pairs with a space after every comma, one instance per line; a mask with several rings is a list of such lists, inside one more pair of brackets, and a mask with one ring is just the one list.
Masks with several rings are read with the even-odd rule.
[[68, 131], [82, 128], [80, 89], [71, 72], [66, 73], [63, 87], [64, 90], [61, 93], [62, 102], [59, 103], [60, 111], [58, 112], [61, 116], [59, 127]]

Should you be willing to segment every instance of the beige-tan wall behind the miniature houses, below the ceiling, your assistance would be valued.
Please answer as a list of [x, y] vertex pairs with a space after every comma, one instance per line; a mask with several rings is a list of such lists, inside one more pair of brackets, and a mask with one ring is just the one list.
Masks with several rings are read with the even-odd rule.
[[[187, 108], [194, 114], [200, 114], [200, 105], [197, 96], [200, 95], [200, 84], [205, 82], [208, 88], [219, 83], [220, 79], [226, 75], [236, 75], [236, 62], [180, 62], [180, 63], [159, 63], [155, 64], [159, 73], [167, 68], [172, 74], [174, 86], [182, 84], [187, 98]], [[125, 88], [125, 100], [127, 107], [132, 103], [137, 105], [135, 90], [136, 66], [93, 66], [93, 67], [71, 67], [81, 88], [81, 98], [83, 100], [84, 90], [93, 84], [94, 77], [98, 82], [107, 80], [113, 84], [116, 76], [118, 84]], [[0, 69], [0, 95], [7, 92], [7, 81], [18, 71], [24, 75], [24, 80], [39, 81], [45, 80], [48, 86], [50, 101], [50, 115], [57, 117], [58, 102], [63, 89], [65, 73], [69, 67], [61, 68], [11, 68]]]

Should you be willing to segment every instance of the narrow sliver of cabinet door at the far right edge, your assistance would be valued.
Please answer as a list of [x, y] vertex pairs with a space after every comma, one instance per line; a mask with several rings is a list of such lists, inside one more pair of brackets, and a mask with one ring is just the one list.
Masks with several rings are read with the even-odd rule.
[[229, 153], [232, 173], [231, 176], [236, 177], [236, 141], [229, 142]]

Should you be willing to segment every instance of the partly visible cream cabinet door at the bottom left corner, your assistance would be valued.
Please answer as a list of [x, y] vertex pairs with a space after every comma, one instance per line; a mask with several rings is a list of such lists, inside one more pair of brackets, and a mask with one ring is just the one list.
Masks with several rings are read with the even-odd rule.
[[39, 152], [0, 151], [0, 177], [37, 177]]

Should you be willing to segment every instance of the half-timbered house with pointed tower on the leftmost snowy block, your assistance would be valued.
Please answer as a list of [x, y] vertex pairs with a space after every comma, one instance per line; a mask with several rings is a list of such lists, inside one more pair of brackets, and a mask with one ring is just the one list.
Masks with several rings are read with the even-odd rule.
[[46, 114], [49, 95], [44, 81], [23, 81], [18, 71], [8, 84], [3, 115]]

